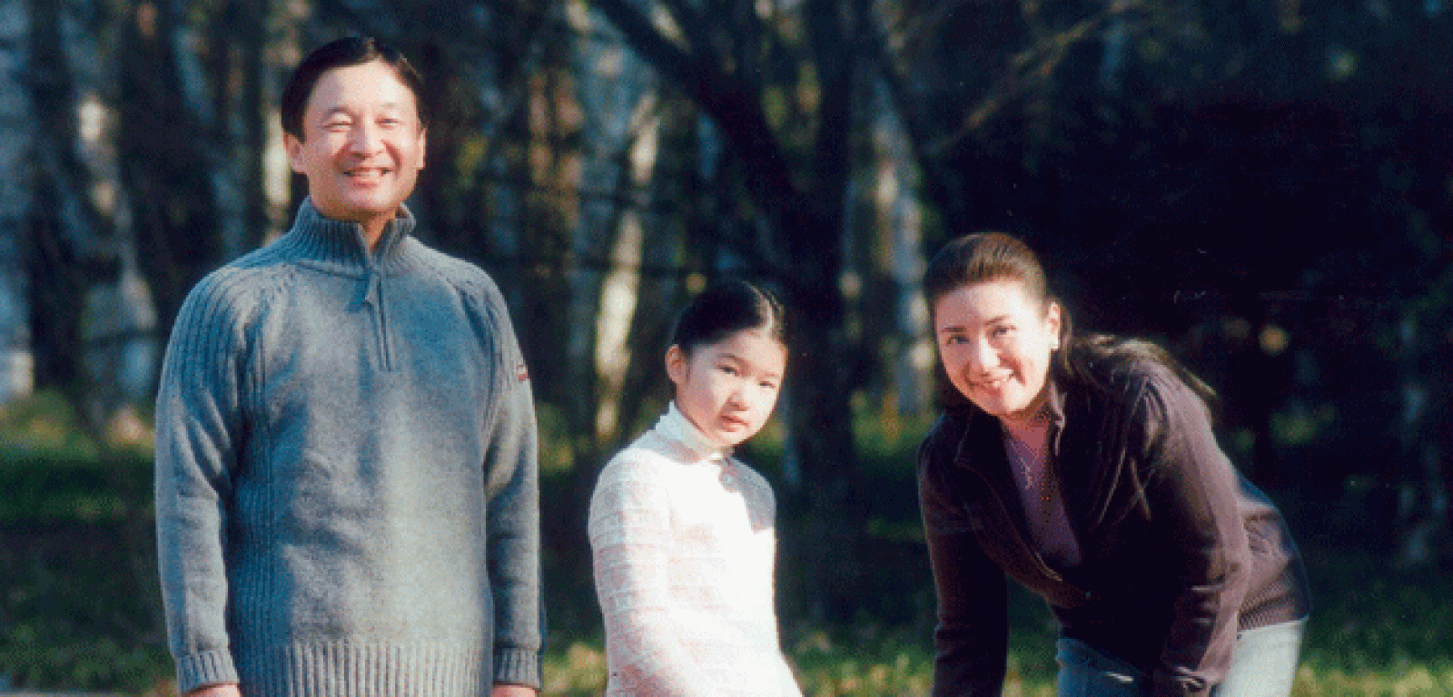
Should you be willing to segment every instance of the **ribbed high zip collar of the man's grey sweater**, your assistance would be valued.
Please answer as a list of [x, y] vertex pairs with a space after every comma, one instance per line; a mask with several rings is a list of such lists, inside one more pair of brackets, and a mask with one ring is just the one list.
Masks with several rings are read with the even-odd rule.
[[408, 206], [400, 205], [398, 215], [388, 222], [372, 250], [363, 241], [363, 225], [325, 218], [304, 199], [298, 218], [286, 240], [295, 245], [302, 263], [344, 276], [392, 273], [407, 261], [408, 238], [416, 218]]

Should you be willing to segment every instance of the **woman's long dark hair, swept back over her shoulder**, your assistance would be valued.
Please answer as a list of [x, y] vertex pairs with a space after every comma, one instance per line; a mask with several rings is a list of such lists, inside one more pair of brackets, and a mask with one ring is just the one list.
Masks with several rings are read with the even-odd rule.
[[[1045, 311], [1051, 302], [1058, 302], [1049, 292], [1045, 279], [1045, 267], [1039, 263], [1035, 250], [1021, 240], [1004, 232], [978, 232], [963, 235], [950, 241], [933, 260], [923, 274], [923, 295], [928, 302], [928, 314], [933, 315], [940, 298], [953, 290], [989, 280], [1017, 280], [1024, 286], [1030, 299], [1037, 301]], [[1056, 356], [1051, 362], [1051, 373], [1074, 382], [1109, 389], [1109, 379], [1120, 367], [1138, 362], [1159, 363], [1191, 388], [1207, 405], [1216, 402], [1216, 392], [1209, 385], [1196, 378], [1194, 373], [1180, 364], [1165, 348], [1136, 338], [1119, 338], [1104, 334], [1075, 337], [1069, 311], [1059, 303], [1059, 346]], [[943, 375], [943, 364], [939, 364], [939, 399], [944, 407], [968, 404], [968, 398], [959, 394]]]

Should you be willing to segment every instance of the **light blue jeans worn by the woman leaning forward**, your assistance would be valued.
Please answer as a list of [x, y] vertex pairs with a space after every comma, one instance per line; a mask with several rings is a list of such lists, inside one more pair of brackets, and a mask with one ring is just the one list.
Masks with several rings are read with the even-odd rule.
[[[1237, 635], [1231, 669], [1212, 697], [1287, 697], [1296, 677], [1306, 620], [1248, 629]], [[1059, 637], [1059, 697], [1142, 697], [1151, 681], [1119, 658], [1077, 639]]]

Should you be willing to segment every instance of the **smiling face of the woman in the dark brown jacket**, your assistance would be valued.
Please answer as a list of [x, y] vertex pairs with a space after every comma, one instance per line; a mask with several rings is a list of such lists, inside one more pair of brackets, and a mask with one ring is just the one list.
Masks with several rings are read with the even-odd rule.
[[949, 380], [991, 415], [1027, 418], [1045, 395], [1059, 317], [1058, 303], [1030, 298], [1013, 279], [969, 283], [939, 298], [933, 333]]

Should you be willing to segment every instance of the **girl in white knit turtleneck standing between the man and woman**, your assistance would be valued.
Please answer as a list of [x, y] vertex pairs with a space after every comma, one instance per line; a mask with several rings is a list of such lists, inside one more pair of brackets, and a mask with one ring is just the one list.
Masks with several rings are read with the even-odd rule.
[[616, 455], [590, 500], [607, 696], [799, 696], [773, 610], [776, 502], [731, 456], [772, 415], [782, 306], [732, 280], [677, 318], [676, 399]]

